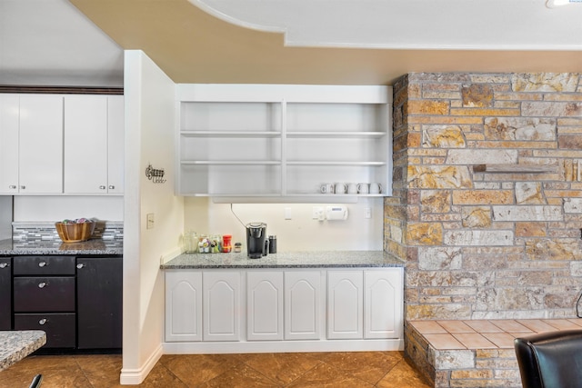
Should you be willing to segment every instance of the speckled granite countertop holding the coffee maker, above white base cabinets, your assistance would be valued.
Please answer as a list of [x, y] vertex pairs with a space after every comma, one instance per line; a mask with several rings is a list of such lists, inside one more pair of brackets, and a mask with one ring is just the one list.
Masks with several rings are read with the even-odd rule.
[[290, 252], [267, 254], [260, 259], [249, 259], [246, 252], [235, 254], [180, 254], [161, 264], [160, 268], [349, 268], [349, 267], [403, 267], [405, 262], [383, 251], [328, 251]]

